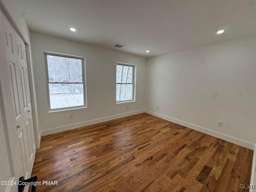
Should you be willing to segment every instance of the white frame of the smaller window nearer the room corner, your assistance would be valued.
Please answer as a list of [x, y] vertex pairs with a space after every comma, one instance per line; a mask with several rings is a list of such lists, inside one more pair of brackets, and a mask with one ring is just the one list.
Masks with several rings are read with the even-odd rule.
[[136, 65], [131, 65], [131, 64], [126, 64], [126, 63], [120, 63], [120, 62], [117, 62], [116, 63], [116, 66], [117, 65], [121, 65], [121, 66], [128, 66], [128, 67], [132, 67], [132, 83], [117, 83], [116, 82], [116, 85], [118, 84], [132, 84], [132, 99], [131, 100], [124, 100], [124, 101], [116, 101], [116, 104], [119, 104], [119, 103], [127, 103], [127, 102], [135, 102], [135, 86], [136, 86]]

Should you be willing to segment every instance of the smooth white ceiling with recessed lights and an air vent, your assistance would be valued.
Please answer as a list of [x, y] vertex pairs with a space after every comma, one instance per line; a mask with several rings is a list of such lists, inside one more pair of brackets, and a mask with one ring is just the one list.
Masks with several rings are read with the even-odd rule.
[[143, 57], [256, 34], [256, 0], [16, 2], [32, 31]]

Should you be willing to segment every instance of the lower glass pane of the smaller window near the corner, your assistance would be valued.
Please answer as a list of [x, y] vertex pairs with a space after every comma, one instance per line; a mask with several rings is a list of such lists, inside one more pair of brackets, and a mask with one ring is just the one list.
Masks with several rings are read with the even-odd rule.
[[116, 84], [116, 101], [132, 100], [133, 85], [132, 84]]

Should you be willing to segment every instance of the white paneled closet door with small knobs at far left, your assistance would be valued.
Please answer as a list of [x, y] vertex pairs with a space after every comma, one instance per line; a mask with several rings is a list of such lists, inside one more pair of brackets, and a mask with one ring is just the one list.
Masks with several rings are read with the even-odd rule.
[[[26, 48], [22, 38], [3, 13], [2, 22], [6, 42], [7, 65], [10, 70], [12, 89], [10, 97], [13, 100], [14, 120], [16, 121], [16, 127], [8, 128], [13, 172], [16, 180], [20, 176], [24, 176], [26, 179], [31, 175], [36, 152]], [[25, 190], [27, 191], [28, 188], [25, 188]]]

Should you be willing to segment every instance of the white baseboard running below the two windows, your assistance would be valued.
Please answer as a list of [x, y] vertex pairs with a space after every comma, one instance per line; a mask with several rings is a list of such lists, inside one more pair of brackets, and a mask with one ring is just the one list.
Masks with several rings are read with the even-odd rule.
[[[39, 135], [41, 137], [41, 136], [50, 135], [50, 134], [57, 133], [57, 132], [76, 129], [76, 128], [80, 128], [83, 126], [88, 126], [88, 125], [101, 123], [101, 122], [105, 122], [105, 121], [110, 121], [110, 120], [130, 116], [130, 115], [135, 115], [135, 114], [139, 114], [139, 113], [143, 113], [143, 112], [145, 112], [144, 109], [132, 111], [132, 112], [128, 112], [128, 113], [122, 113], [122, 114], [118, 114], [118, 115], [112, 115], [112, 116], [103, 117], [103, 118], [98, 118], [98, 119], [93, 119], [93, 120], [88, 120], [88, 121], [84, 121], [84, 122], [69, 124], [69, 125], [65, 125], [65, 126], [50, 128], [50, 129], [40, 131]], [[40, 140], [41, 140], [41, 138], [40, 138]]]

